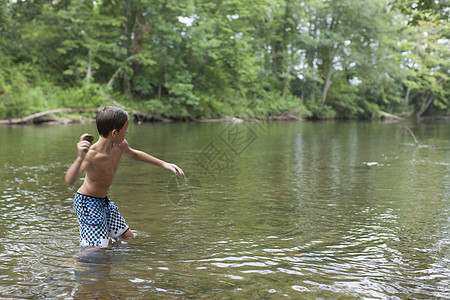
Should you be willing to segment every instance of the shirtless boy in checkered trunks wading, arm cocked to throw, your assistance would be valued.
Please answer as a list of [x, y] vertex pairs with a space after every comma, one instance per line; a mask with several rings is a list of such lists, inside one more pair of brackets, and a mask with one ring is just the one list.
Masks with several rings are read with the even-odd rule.
[[150, 163], [184, 176], [177, 165], [166, 163], [128, 145], [128, 114], [117, 107], [107, 106], [96, 117], [98, 141], [91, 145], [80, 137], [77, 144], [78, 156], [67, 170], [64, 180], [68, 185], [86, 172], [85, 180], [74, 198], [75, 211], [80, 224], [80, 244], [83, 247], [107, 248], [110, 237], [129, 239], [134, 236], [117, 206], [107, 195], [114, 181], [120, 158], [126, 156]]

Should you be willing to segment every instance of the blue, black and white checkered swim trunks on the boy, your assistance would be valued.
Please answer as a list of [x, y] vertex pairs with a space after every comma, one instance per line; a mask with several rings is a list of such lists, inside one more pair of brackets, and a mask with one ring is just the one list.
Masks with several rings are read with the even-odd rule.
[[108, 197], [95, 198], [77, 192], [74, 207], [80, 224], [82, 247], [106, 248], [110, 237], [119, 237], [130, 228]]

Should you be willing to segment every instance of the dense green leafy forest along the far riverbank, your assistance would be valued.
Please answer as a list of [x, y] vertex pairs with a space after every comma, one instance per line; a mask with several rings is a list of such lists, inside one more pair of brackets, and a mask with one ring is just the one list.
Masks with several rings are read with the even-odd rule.
[[5, 0], [0, 119], [450, 116], [442, 0]]

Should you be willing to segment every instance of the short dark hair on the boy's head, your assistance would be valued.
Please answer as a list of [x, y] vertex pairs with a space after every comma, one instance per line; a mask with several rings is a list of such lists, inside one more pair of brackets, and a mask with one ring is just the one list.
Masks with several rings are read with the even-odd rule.
[[114, 129], [119, 131], [128, 120], [128, 114], [121, 108], [105, 106], [95, 118], [98, 133], [103, 137], [108, 137]]

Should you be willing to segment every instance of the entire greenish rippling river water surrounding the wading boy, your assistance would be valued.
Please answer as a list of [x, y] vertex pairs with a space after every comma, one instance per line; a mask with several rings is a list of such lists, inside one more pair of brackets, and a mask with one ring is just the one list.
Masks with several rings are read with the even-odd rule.
[[81, 252], [63, 175], [93, 126], [0, 127], [0, 298], [449, 298], [450, 131], [410, 128], [430, 147], [402, 124], [131, 126], [186, 178], [124, 158], [137, 237]]

